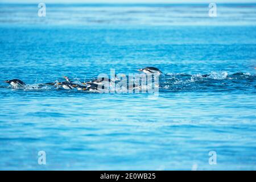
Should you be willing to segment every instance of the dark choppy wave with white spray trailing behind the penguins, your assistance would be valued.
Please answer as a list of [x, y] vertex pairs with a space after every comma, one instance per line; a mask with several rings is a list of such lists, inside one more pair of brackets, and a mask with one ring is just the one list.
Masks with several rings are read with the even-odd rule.
[[[197, 73], [167, 73], [160, 80], [162, 91], [223, 91], [251, 90], [255, 86], [256, 76], [250, 73], [237, 72], [228, 75], [226, 71]], [[255, 90], [255, 88], [254, 88]]]

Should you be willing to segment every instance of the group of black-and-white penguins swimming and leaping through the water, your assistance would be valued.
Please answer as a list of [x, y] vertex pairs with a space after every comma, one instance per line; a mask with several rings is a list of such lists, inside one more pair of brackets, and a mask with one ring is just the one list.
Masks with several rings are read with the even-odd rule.
[[[148, 74], [154, 74], [157, 76], [160, 76], [163, 72], [161, 72], [158, 68], [155, 67], [146, 67], [143, 69], [138, 69], [138, 71], [141, 71], [143, 73]], [[70, 80], [67, 76], [64, 76], [65, 81], [63, 82], [50, 82], [46, 84], [41, 84], [41, 85], [52, 85], [52, 86], [61, 86], [63, 89], [77, 89], [77, 90], [87, 90], [89, 92], [101, 92], [100, 89], [104, 89], [105, 84], [112, 84], [113, 82], [117, 81], [117, 75], [115, 75], [114, 80], [111, 80], [109, 78], [97, 78], [96, 80], [91, 80], [88, 82], [83, 82], [81, 84], [76, 84], [72, 80]], [[13, 79], [13, 80], [6, 80], [5, 81], [7, 84], [10, 84], [13, 88], [24, 88], [26, 84], [19, 80], [19, 79]], [[101, 86], [99, 86], [101, 85]], [[130, 88], [135, 88], [137, 85], [131, 85], [129, 86]]]

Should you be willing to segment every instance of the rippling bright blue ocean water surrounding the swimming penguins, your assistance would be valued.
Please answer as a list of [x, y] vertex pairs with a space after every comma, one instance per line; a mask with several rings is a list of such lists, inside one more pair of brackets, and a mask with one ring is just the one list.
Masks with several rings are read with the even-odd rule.
[[[0, 5], [1, 170], [256, 169], [254, 4], [46, 7]], [[148, 66], [158, 97], [39, 86]]]

